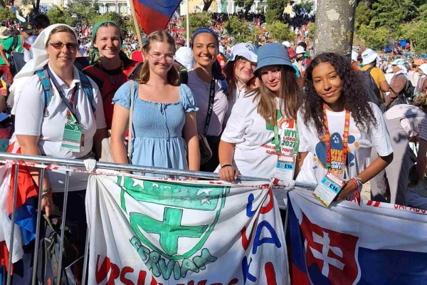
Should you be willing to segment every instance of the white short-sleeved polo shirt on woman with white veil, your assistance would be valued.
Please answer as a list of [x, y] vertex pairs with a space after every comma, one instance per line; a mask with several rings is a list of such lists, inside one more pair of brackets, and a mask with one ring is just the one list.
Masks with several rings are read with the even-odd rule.
[[[45, 112], [45, 97], [43, 86], [37, 75], [31, 77], [26, 86], [23, 86], [21, 97], [16, 103], [15, 135], [38, 136], [38, 148], [41, 155], [60, 158], [79, 158], [92, 150], [93, 136], [97, 129], [107, 128], [105, 124], [104, 108], [102, 108], [102, 98], [95, 82], [90, 78], [92, 85], [95, 115], [88, 96], [84, 89], [80, 87], [80, 76], [78, 69], [73, 67], [74, 80], [68, 87], [53, 73], [60, 88], [63, 90], [65, 98], [71, 98], [73, 88], [78, 84], [78, 91], [75, 93], [76, 118], [80, 125], [83, 125], [84, 146], [80, 152], [72, 152], [61, 148], [65, 123], [67, 122], [67, 110], [65, 103], [53, 86], [51, 81], [51, 102], [48, 103]], [[65, 172], [58, 170], [47, 171], [49, 182], [54, 192], [63, 192], [65, 187]], [[70, 172], [69, 190], [85, 190], [88, 185], [88, 175]]]

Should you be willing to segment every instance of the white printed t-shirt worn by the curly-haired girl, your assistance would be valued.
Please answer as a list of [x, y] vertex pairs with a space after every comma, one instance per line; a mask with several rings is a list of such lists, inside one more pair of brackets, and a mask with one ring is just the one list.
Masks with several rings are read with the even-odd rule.
[[[347, 170], [346, 180], [355, 177], [365, 170], [369, 165], [371, 157], [371, 147], [374, 147], [380, 156], [387, 156], [393, 152], [389, 132], [387, 131], [381, 110], [373, 104], [376, 125], [371, 126], [368, 133], [357, 128], [350, 114], [349, 138], [347, 147]], [[332, 172], [341, 178], [344, 178], [344, 162], [342, 151], [342, 138], [344, 134], [345, 111], [332, 112], [326, 111], [327, 122], [329, 124]], [[324, 138], [319, 140], [314, 123], [305, 125], [301, 109], [297, 114], [298, 133], [300, 135], [300, 152], [310, 152], [308, 159], [304, 160], [302, 169], [297, 176], [297, 181], [319, 183], [322, 177], [326, 175], [326, 142]]]

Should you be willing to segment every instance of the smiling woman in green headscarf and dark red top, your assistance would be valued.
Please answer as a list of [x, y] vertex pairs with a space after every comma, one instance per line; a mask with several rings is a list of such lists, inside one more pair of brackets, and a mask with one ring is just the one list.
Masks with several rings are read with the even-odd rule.
[[115, 21], [97, 22], [93, 26], [90, 66], [83, 69], [83, 73], [100, 88], [108, 130], [111, 129], [115, 92], [130, 78], [138, 76], [142, 66], [139, 61], [127, 58], [122, 51], [122, 42], [122, 33]]

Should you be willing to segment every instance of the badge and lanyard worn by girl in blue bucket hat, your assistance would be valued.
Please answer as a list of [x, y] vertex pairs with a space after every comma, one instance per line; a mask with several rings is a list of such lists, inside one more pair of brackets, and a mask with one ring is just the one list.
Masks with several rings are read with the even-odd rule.
[[295, 163], [297, 160], [297, 153], [298, 153], [298, 147], [300, 145], [300, 140], [298, 138], [298, 129], [296, 127], [295, 122], [295, 141], [292, 141], [292, 148], [293, 153], [292, 155], [283, 155], [282, 151], [280, 150], [280, 144], [281, 140], [279, 138], [278, 134], [278, 125], [276, 118], [275, 120], [275, 126], [274, 126], [274, 138], [275, 138], [275, 151], [278, 153], [278, 162], [276, 163], [275, 167], [275, 174], [274, 177], [278, 180], [293, 180], [294, 173], [295, 173]]

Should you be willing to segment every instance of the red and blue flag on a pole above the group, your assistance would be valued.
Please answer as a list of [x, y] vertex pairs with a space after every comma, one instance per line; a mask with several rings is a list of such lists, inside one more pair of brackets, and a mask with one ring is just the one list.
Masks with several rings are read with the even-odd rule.
[[145, 33], [164, 30], [181, 0], [132, 0]]

